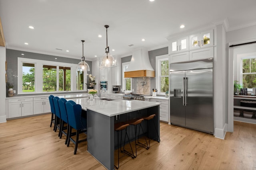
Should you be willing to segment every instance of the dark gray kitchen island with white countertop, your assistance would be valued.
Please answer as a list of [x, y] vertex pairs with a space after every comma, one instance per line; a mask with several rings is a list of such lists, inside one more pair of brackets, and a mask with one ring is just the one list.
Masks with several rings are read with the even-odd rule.
[[[88, 98], [70, 100], [87, 110], [87, 151], [109, 170], [114, 169], [114, 150], [117, 148], [115, 123], [156, 114], [153, 120], [160, 134], [160, 103], [138, 100], [89, 100]], [[147, 133], [146, 122], [142, 123], [144, 133]], [[150, 138], [158, 140], [153, 128], [154, 126], [150, 127]], [[127, 130], [130, 140], [134, 139], [134, 128], [129, 127]]]

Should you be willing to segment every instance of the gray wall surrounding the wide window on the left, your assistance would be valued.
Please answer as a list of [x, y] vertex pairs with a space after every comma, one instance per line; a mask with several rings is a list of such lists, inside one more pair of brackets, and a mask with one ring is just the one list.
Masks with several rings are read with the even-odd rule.
[[[21, 54], [24, 55], [21, 55]], [[78, 64], [81, 60], [78, 59], [70, 59], [66, 57], [58, 57], [53, 55], [44, 55], [44, 54], [38, 54], [38, 53], [30, 53], [26, 51], [18, 51], [18, 50], [12, 50], [12, 49], [6, 49], [6, 61], [7, 61], [7, 81], [14, 84], [14, 90], [17, 91], [18, 89], [18, 57], [28, 58], [28, 59], [37, 59], [37, 60], [45, 60], [45, 61], [57, 61], [62, 63], [72, 63], [72, 64]], [[57, 58], [57, 59], [55, 59]], [[88, 74], [91, 74], [92, 70], [92, 61], [86, 61], [90, 66], [90, 71]], [[6, 88], [6, 96], [8, 92], [8, 89]], [[18, 95], [18, 96], [26, 96], [24, 95]]]

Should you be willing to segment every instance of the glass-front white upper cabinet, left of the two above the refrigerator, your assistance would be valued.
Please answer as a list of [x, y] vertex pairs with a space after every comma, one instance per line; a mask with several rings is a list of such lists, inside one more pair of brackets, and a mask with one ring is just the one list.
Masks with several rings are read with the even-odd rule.
[[187, 51], [188, 48], [188, 36], [179, 39], [169, 40], [169, 54]]

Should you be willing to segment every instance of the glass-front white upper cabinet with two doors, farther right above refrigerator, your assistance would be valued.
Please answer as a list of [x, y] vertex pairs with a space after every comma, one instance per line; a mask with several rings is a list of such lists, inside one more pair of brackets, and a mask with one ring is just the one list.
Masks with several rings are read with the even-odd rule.
[[189, 49], [198, 49], [213, 45], [213, 30], [203, 31], [189, 36]]

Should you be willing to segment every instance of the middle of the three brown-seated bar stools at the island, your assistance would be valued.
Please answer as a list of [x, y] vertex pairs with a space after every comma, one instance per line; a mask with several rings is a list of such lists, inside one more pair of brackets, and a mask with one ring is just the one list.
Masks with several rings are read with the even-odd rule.
[[[148, 147], [148, 142], [147, 142], [147, 139], [144, 135], [144, 131], [142, 129], [142, 125], [141, 125], [141, 122], [143, 121], [144, 119], [143, 118], [140, 118], [140, 119], [134, 119], [134, 120], [130, 120], [128, 121], [127, 123], [129, 123], [130, 125], [133, 125], [134, 126], [134, 129], [135, 129], [135, 152], [136, 152], [136, 155], [134, 156], [134, 158], [137, 157], [137, 145], [141, 146], [141, 147], [144, 147], [146, 149], [149, 149]], [[139, 125], [139, 133], [138, 133], [138, 143], [136, 143], [136, 134], [137, 134], [137, 125]], [[139, 142], [139, 136], [140, 136], [140, 128], [142, 130], [142, 133], [144, 135], [144, 139], [146, 141], [146, 145], [142, 144]]]

